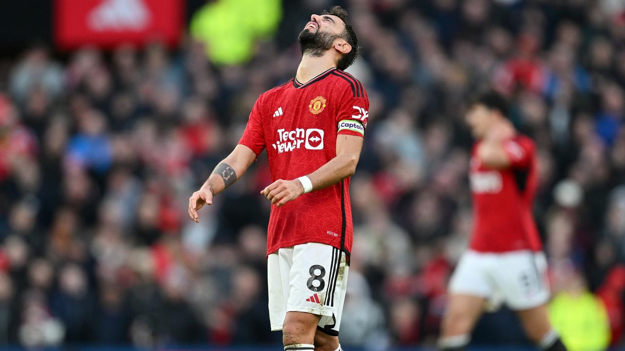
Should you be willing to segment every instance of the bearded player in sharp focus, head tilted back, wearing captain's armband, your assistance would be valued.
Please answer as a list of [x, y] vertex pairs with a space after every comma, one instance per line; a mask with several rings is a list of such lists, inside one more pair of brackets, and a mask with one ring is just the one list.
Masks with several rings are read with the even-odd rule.
[[189, 216], [232, 185], [267, 149], [272, 184], [267, 232], [269, 317], [284, 350], [341, 350], [352, 218], [349, 177], [367, 126], [362, 84], [343, 72], [358, 41], [347, 12], [312, 15], [299, 34], [294, 79], [261, 94], [239, 145], [189, 199]]

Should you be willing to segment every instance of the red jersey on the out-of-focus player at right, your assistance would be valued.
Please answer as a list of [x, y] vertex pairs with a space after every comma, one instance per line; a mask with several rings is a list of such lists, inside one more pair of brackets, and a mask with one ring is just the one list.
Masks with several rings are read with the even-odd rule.
[[532, 217], [536, 194], [536, 146], [526, 136], [504, 142], [511, 161], [507, 169], [484, 166], [471, 152], [471, 192], [475, 224], [469, 247], [481, 252], [507, 252], [542, 249]]

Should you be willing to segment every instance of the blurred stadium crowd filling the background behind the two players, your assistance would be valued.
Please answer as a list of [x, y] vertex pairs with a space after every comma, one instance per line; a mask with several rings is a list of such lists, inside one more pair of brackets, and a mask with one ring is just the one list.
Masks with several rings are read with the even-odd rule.
[[[464, 102], [484, 87], [539, 147], [552, 322], [570, 350], [622, 344], [624, 2], [22, 0], [0, 2], [2, 349], [281, 350], [266, 157], [199, 225], [187, 201], [333, 4], [351, 15], [363, 52], [347, 71], [371, 101], [344, 348], [435, 344], [472, 225]], [[531, 347], [506, 309], [473, 342]]]

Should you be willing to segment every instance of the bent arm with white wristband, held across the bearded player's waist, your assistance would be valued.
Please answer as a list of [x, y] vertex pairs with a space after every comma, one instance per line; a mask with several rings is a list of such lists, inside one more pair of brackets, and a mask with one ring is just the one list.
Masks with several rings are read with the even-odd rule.
[[[329, 187], [353, 175], [360, 158], [362, 140], [361, 136], [339, 134], [336, 137], [336, 157], [319, 167], [317, 171], [307, 175], [307, 179], [311, 183], [307, 184], [311, 188], [309, 190], [314, 191]], [[304, 194], [305, 189], [302, 182], [306, 181], [306, 179], [279, 179], [262, 190], [261, 194], [265, 195], [272, 204], [280, 207]]]

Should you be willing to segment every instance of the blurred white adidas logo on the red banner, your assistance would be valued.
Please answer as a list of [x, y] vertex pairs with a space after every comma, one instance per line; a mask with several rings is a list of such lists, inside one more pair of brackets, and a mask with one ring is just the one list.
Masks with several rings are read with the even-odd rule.
[[94, 31], [143, 31], [150, 24], [150, 12], [143, 0], [106, 0], [89, 14]]

